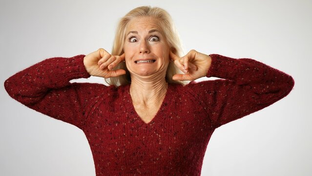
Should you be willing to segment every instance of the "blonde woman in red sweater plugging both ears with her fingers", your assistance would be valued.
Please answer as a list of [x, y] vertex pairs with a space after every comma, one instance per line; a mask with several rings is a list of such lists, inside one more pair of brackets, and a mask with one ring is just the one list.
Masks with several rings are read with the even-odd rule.
[[[143, 6], [121, 19], [111, 54], [49, 58], [4, 86], [25, 106], [83, 130], [97, 176], [199, 176], [212, 132], [285, 97], [294, 81], [253, 59], [180, 56], [169, 14]], [[90, 76], [111, 86], [69, 82]], [[222, 79], [193, 81], [205, 76]]]

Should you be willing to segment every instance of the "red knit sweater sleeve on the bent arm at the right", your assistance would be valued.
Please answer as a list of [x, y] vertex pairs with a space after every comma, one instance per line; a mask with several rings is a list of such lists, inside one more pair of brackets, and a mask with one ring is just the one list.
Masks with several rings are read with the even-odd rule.
[[187, 86], [207, 108], [214, 128], [270, 106], [294, 86], [290, 75], [253, 59], [209, 56], [207, 77], [222, 79], [191, 82]]

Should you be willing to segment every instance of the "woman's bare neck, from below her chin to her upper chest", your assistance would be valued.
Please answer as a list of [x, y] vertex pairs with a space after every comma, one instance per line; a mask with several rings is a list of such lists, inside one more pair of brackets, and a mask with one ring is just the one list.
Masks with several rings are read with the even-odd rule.
[[142, 79], [131, 76], [130, 95], [135, 104], [162, 102], [166, 95], [168, 84], [164, 77]]

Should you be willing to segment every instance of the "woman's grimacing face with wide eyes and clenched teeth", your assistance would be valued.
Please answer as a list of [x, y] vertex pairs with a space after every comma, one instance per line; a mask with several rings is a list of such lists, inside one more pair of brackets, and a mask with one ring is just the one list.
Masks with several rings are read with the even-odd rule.
[[166, 76], [170, 47], [161, 31], [152, 17], [134, 18], [128, 23], [124, 51], [131, 75]]

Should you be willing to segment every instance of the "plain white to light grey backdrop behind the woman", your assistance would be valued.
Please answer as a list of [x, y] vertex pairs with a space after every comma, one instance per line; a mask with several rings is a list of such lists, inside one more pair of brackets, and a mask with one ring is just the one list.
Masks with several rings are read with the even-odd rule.
[[[141, 5], [170, 13], [185, 53], [252, 58], [295, 80], [285, 98], [216, 129], [202, 176], [311, 176], [311, 0], [1, 0], [1, 83], [46, 58], [111, 51], [118, 20]], [[0, 103], [1, 176], [95, 175], [80, 129], [28, 109], [3, 86]]]

